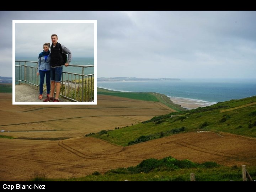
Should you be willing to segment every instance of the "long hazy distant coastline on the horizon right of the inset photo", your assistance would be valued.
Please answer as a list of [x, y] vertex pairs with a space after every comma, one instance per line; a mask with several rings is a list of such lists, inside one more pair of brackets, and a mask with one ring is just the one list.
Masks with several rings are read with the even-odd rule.
[[181, 81], [178, 78], [128, 78], [128, 77], [115, 77], [115, 78], [97, 78], [97, 81]]

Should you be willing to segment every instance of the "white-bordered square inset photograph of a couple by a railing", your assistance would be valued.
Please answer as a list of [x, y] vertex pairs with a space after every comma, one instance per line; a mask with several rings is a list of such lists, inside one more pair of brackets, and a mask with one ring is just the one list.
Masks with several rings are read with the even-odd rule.
[[97, 104], [96, 20], [12, 25], [12, 104]]

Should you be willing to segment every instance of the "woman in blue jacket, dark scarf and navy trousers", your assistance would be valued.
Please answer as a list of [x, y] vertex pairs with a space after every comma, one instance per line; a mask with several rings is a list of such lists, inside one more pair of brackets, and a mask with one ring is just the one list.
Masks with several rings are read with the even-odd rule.
[[44, 76], [46, 76], [46, 88], [47, 88], [47, 97], [50, 96], [50, 43], [44, 43], [44, 51], [39, 53], [38, 56], [38, 69], [37, 75], [40, 75], [40, 84], [39, 84], [39, 99], [43, 98], [43, 84]]

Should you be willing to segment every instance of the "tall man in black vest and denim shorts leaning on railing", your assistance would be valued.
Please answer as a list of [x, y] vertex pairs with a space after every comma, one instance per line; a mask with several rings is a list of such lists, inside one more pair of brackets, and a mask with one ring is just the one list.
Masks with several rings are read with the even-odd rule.
[[[68, 66], [72, 59], [70, 50], [66, 48], [63, 44], [58, 43], [57, 34], [52, 34], [51, 38], [52, 38], [52, 45], [50, 47], [51, 91], [50, 91], [50, 97], [45, 99], [43, 102], [49, 102], [52, 100], [53, 102], [59, 102], [60, 80], [62, 78], [62, 65], [63, 65], [62, 54], [60, 53], [61, 48], [62, 48], [62, 53], [68, 54], [68, 61], [65, 63], [65, 66]], [[56, 95], [54, 98], [55, 84], [56, 84]]]

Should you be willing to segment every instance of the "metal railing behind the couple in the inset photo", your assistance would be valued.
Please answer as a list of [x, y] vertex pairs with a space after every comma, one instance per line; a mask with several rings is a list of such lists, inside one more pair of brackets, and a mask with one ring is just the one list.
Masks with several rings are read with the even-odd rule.
[[[24, 82], [39, 87], [39, 76], [37, 76], [38, 62], [15, 61], [15, 84]], [[24, 63], [24, 64], [23, 64]], [[29, 66], [27, 63], [35, 63], [36, 66]], [[84, 74], [85, 68], [94, 65], [72, 65], [82, 68], [81, 74], [63, 71], [60, 87], [60, 95], [73, 102], [94, 102], [94, 73]], [[46, 90], [46, 80], [43, 89]]]

